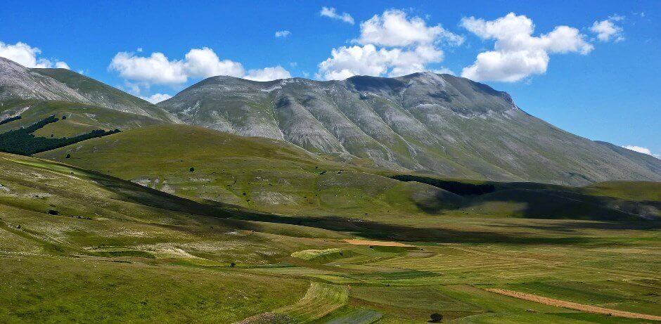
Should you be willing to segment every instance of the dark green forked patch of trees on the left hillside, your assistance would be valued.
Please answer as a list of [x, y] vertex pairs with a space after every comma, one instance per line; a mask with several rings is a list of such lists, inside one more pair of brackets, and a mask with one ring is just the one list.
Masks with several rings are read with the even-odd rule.
[[32, 134], [34, 131], [43, 128], [47, 124], [57, 122], [58, 120], [59, 119], [56, 117], [50, 116], [30, 125], [29, 127], [21, 127], [20, 129], [7, 131], [6, 133], [0, 134], [0, 152], [19, 155], [32, 155], [34, 153], [45, 152], [47, 150], [53, 150], [66, 145], [71, 145], [73, 143], [78, 143], [80, 141], [85, 141], [90, 138], [97, 138], [120, 132], [119, 129], [112, 131], [96, 129], [86, 134], [63, 138], [37, 137]]

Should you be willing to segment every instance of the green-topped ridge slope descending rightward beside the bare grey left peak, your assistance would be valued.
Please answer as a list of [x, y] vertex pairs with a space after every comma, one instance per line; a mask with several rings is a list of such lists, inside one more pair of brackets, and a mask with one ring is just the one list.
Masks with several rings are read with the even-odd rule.
[[32, 69], [32, 71], [39, 72], [39, 74], [52, 77], [53, 79], [66, 84], [92, 103], [96, 103], [105, 108], [122, 112], [131, 112], [136, 115], [150, 116], [157, 119], [170, 119], [167, 112], [158, 108], [156, 105], [72, 70]]

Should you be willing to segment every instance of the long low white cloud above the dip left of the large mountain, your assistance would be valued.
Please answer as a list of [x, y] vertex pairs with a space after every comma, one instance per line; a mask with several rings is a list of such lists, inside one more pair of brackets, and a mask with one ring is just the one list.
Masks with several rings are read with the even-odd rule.
[[216, 75], [259, 77], [261, 79], [268, 75], [285, 75], [283, 71], [289, 75], [289, 72], [281, 66], [250, 70], [246, 74], [241, 63], [233, 60], [221, 60], [211, 48], [207, 47], [191, 49], [183, 60], [170, 60], [165, 54], [159, 52], [151, 53], [150, 56], [136, 56], [135, 53], [120, 52], [115, 55], [108, 68], [118, 72], [124, 79], [145, 86], [150, 84], [177, 86], [188, 82], [188, 79], [191, 78]]

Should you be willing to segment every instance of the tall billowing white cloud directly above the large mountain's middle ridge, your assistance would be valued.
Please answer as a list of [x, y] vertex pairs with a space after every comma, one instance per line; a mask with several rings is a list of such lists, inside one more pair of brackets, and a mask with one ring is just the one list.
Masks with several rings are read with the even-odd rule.
[[422, 72], [430, 63], [442, 62], [439, 44], [458, 45], [463, 37], [428, 26], [419, 17], [409, 17], [397, 9], [384, 11], [361, 22], [361, 33], [352, 42], [331, 50], [331, 56], [319, 63], [316, 77], [347, 79], [354, 75], [398, 77]]

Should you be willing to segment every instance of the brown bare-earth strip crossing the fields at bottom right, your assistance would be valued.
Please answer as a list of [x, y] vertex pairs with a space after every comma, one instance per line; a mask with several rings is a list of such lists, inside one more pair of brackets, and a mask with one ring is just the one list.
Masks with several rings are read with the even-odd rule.
[[585, 311], [587, 313], [597, 313], [597, 314], [619, 316], [626, 318], [640, 318], [644, 320], [661, 320], [661, 316], [641, 314], [641, 313], [631, 313], [629, 311], [618, 311], [617, 309], [605, 309], [603, 307], [598, 307], [598, 306], [565, 302], [564, 300], [541, 297], [541, 296], [537, 296], [536, 294], [526, 294], [525, 292], [515, 292], [513, 290], [504, 290], [504, 289], [495, 289], [495, 288], [489, 288], [485, 290], [489, 292], [495, 292], [496, 294], [504, 294], [509, 297], [530, 300], [531, 302], [537, 302], [539, 304], [558, 306], [558, 307], [563, 307], [565, 309], [575, 309], [577, 311]]

